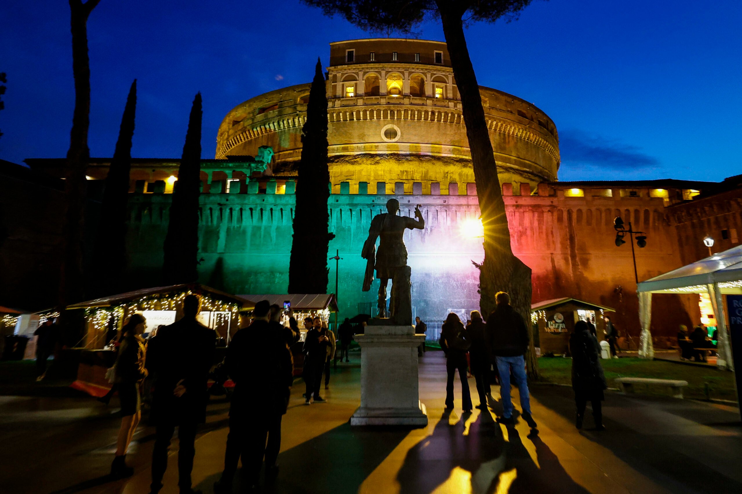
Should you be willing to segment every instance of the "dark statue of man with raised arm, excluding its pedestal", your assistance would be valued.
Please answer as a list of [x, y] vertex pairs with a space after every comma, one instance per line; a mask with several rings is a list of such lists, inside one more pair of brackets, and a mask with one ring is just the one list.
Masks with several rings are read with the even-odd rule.
[[[371, 220], [369, 238], [364, 243], [361, 257], [367, 259], [366, 276], [364, 276], [364, 292], [371, 289], [373, 270], [381, 281], [378, 288], [378, 313], [380, 317], [390, 317], [398, 324], [412, 323], [412, 306], [410, 303], [410, 267], [407, 266], [407, 249], [404, 247], [402, 236], [404, 230], [425, 227], [425, 220], [420, 213], [420, 207], [415, 207], [415, 218], [397, 216], [399, 201], [387, 201], [389, 213], [378, 214]], [[376, 252], [376, 238], [380, 238], [378, 253]], [[387, 309], [387, 284], [392, 280], [392, 296], [390, 314]], [[405, 286], [406, 285], [406, 286]]]

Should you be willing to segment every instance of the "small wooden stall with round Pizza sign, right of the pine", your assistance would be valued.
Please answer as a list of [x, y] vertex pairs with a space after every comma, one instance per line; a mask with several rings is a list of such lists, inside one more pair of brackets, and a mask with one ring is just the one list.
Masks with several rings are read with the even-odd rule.
[[615, 310], [577, 298], [554, 298], [532, 304], [533, 336], [537, 338], [536, 346], [540, 347], [541, 355], [568, 354], [569, 336], [574, 330], [574, 323], [580, 320], [594, 324], [598, 341], [605, 339], [603, 316], [606, 312]]

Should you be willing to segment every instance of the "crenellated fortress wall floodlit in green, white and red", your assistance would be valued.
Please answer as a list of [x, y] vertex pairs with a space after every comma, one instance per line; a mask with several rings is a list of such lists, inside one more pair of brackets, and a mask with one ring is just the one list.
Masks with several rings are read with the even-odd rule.
[[[503, 192], [513, 251], [533, 270], [533, 300], [572, 296], [614, 307], [614, 321], [636, 335], [631, 248], [615, 246], [613, 220], [621, 216], [647, 233], [647, 247], [637, 249], [640, 279], [672, 270], [680, 265], [680, 254], [663, 210], [668, 194], [676, 191], [658, 196], [651, 189], [578, 190], [542, 183], [532, 194], [528, 184], [521, 187], [513, 190], [513, 184], [505, 183]], [[248, 193], [221, 193], [221, 187], [214, 187], [213, 192], [202, 194], [200, 281], [230, 293], [285, 293], [293, 188], [276, 193], [273, 181], [265, 193], [257, 193], [257, 187]], [[408, 231], [404, 236], [413, 269], [416, 315], [441, 319], [450, 310], [479, 308], [479, 272], [472, 261], [482, 261], [484, 253], [473, 187], [468, 187], [468, 194], [458, 195], [422, 193], [419, 183], [414, 185], [415, 193], [403, 193], [398, 186], [396, 194], [371, 190], [354, 194], [347, 185], [341, 188], [344, 193], [332, 194], [329, 200], [329, 229], [336, 235], [329, 244], [329, 256], [339, 250], [343, 258], [338, 286], [341, 316], [355, 316], [375, 301], [378, 284], [370, 292], [361, 292], [365, 261], [360, 253], [372, 216], [383, 212], [390, 198], [398, 199], [405, 216], [414, 216], [414, 207], [420, 204], [426, 221], [424, 230]], [[160, 281], [162, 238], [171, 202], [171, 194], [162, 193], [162, 187], [150, 189], [158, 192], [134, 193], [130, 199], [128, 252], [132, 275], [142, 286]], [[335, 292], [335, 263], [329, 262], [328, 267], [328, 291]], [[663, 327], [687, 323], [697, 312], [697, 303], [694, 307], [687, 296], [655, 297], [654, 304], [657, 313], [664, 314], [657, 319]]]

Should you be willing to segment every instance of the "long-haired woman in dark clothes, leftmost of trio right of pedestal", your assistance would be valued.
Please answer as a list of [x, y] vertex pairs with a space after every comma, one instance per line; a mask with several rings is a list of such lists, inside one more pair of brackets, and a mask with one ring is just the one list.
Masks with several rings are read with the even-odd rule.
[[466, 353], [471, 345], [469, 334], [464, 324], [454, 313], [450, 313], [441, 327], [441, 338], [439, 340], [441, 350], [446, 354], [446, 408], [453, 408], [453, 377], [459, 370], [459, 378], [462, 381], [462, 408], [464, 412], [471, 412], [471, 394], [469, 393], [469, 381], [467, 381]]

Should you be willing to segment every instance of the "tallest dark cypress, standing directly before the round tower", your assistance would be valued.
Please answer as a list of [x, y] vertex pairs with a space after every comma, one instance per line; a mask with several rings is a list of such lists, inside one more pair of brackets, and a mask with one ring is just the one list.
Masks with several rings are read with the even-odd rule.
[[301, 163], [289, 261], [289, 293], [326, 293], [327, 249], [335, 235], [327, 231], [327, 90], [319, 59], [309, 90], [306, 123], [301, 133]]

